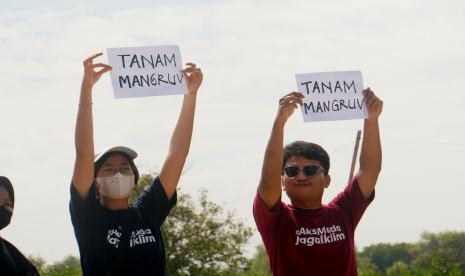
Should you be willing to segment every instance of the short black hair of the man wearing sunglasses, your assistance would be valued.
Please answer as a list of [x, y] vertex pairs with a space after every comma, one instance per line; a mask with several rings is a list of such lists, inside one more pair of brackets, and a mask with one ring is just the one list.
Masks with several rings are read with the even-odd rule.
[[289, 158], [293, 156], [302, 156], [309, 160], [320, 161], [326, 174], [329, 173], [329, 155], [320, 145], [305, 141], [294, 141], [287, 144], [284, 147], [283, 169]]

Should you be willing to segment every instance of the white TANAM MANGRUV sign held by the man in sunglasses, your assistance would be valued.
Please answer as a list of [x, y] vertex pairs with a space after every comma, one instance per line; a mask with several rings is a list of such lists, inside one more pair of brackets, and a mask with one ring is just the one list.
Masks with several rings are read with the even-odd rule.
[[296, 74], [304, 122], [367, 118], [360, 71]]

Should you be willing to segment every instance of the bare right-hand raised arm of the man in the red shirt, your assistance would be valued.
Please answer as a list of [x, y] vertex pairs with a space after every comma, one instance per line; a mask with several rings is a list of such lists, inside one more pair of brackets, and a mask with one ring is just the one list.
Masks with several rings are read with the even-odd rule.
[[383, 111], [383, 101], [370, 88], [363, 91], [368, 109], [368, 118], [363, 126], [362, 150], [360, 153], [360, 168], [358, 183], [365, 198], [373, 193], [381, 172], [381, 139], [379, 135], [378, 118]]

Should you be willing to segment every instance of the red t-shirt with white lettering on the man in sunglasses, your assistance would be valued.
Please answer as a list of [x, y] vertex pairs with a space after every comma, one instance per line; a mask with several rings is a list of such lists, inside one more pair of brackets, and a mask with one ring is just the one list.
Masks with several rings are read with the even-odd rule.
[[357, 275], [354, 231], [374, 196], [363, 197], [356, 177], [315, 210], [279, 201], [270, 211], [257, 193], [253, 214], [273, 275]]

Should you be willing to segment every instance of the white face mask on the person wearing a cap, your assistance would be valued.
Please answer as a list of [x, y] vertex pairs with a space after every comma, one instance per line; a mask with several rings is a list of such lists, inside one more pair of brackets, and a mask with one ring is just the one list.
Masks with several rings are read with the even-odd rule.
[[100, 193], [113, 199], [129, 197], [134, 188], [134, 175], [123, 175], [120, 172], [113, 176], [97, 177], [96, 180]]

